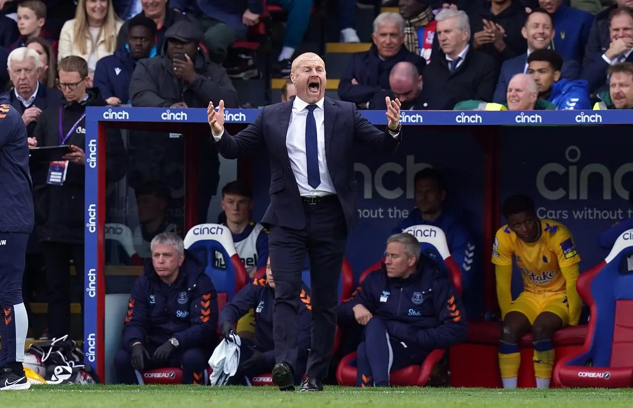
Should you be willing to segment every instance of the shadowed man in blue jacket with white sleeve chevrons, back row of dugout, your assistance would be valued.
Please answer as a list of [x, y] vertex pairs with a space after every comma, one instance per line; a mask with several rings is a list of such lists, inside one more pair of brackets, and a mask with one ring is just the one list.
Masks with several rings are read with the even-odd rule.
[[[425, 168], [413, 178], [415, 189], [415, 209], [398, 224], [392, 233], [401, 233], [413, 225], [432, 225], [446, 234], [446, 242], [451, 256], [461, 269], [461, 287], [468, 296], [470, 284], [479, 275], [475, 242], [466, 225], [454, 214], [444, 211], [446, 185], [441, 173], [434, 168]], [[422, 248], [425, 249], [425, 248]], [[470, 313], [472, 314], [472, 312]]]

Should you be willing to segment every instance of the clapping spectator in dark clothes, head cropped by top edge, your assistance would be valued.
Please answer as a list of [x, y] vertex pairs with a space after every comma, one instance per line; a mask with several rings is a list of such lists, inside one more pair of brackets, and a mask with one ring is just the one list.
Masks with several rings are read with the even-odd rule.
[[506, 59], [525, 53], [527, 43], [521, 35], [525, 20], [525, 6], [519, 0], [487, 1], [472, 18], [473, 47], [501, 66]]

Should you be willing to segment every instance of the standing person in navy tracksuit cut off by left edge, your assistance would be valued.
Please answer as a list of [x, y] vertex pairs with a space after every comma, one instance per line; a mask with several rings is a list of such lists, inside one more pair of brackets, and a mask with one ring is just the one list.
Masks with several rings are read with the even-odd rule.
[[33, 229], [33, 183], [28, 171], [27, 127], [6, 97], [0, 99], [0, 390], [27, 390], [24, 342], [27, 310], [22, 274]]

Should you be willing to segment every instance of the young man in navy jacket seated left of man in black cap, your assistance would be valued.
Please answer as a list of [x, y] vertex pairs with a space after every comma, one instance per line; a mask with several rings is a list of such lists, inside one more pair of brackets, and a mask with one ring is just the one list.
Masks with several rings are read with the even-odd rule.
[[130, 104], [130, 80], [136, 63], [156, 56], [156, 23], [144, 14], [134, 16], [128, 25], [127, 44], [99, 59], [94, 70], [94, 87], [108, 105]]

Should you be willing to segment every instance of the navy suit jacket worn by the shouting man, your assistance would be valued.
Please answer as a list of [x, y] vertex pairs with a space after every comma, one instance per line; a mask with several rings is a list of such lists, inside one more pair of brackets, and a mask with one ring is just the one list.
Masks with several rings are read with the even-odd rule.
[[[358, 223], [354, 142], [370, 145], [377, 152], [394, 152], [402, 139], [402, 130], [398, 138], [394, 138], [386, 127], [384, 131], [378, 130], [351, 102], [325, 97], [323, 110], [327, 167], [345, 214], [348, 232], [351, 232]], [[292, 101], [265, 106], [256, 120], [237, 135], [230, 135], [225, 128], [216, 147], [227, 159], [259, 152], [265, 147], [270, 159], [270, 205], [261, 222], [303, 230], [306, 226], [303, 201], [285, 145], [291, 114]]]

